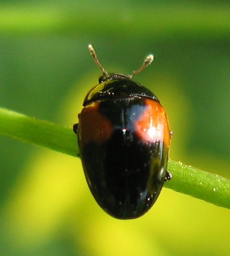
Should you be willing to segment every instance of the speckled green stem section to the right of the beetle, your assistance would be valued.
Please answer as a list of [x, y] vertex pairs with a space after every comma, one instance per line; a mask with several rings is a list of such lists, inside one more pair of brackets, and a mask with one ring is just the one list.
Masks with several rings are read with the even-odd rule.
[[168, 169], [173, 178], [164, 187], [230, 209], [229, 179], [173, 160], [169, 160]]

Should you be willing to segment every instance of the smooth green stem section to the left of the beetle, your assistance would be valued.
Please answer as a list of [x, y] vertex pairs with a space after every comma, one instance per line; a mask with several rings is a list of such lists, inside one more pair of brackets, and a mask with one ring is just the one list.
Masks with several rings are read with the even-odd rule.
[[77, 156], [77, 137], [72, 129], [4, 108], [0, 108], [0, 134]]

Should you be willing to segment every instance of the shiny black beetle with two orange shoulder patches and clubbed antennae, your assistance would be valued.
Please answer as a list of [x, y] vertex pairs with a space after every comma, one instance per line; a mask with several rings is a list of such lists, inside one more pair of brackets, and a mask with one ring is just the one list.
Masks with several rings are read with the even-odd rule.
[[89, 188], [97, 203], [117, 219], [134, 219], [156, 201], [164, 181], [172, 132], [160, 101], [132, 80], [153, 60], [145, 58], [132, 75], [103, 71], [99, 84], [85, 97], [79, 123], [74, 124], [79, 155]]

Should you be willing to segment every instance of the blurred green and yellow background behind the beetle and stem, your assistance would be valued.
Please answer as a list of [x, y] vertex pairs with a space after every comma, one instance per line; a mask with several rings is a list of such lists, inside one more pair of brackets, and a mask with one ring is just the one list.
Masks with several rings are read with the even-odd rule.
[[[229, 1], [0, 3], [0, 106], [71, 127], [108, 71], [151, 89], [174, 131], [170, 158], [230, 178]], [[1, 256], [229, 256], [230, 211], [163, 188], [135, 220], [103, 212], [79, 159], [0, 137]]]

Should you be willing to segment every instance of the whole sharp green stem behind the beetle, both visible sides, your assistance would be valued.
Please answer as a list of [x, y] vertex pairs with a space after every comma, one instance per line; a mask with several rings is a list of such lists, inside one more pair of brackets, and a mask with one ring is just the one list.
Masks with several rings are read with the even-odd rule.
[[[0, 134], [77, 157], [72, 129], [4, 108], [0, 108]], [[173, 179], [164, 183], [166, 188], [230, 209], [230, 180], [173, 160], [168, 169]]]

